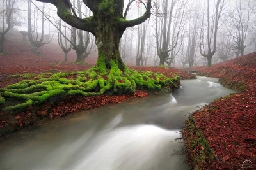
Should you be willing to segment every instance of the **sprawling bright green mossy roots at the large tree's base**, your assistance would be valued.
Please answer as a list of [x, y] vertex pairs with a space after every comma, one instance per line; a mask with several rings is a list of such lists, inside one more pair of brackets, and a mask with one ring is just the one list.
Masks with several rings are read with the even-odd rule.
[[[97, 96], [100, 94], [122, 94], [136, 89], [173, 90], [180, 87], [180, 78], [167, 78], [150, 71], [134, 71], [125, 68], [123, 71], [113, 63], [111, 69], [93, 67], [75, 73], [55, 73], [47, 78], [37, 76], [36, 80], [23, 80], [1, 89], [3, 97], [22, 99], [24, 103], [4, 108], [18, 110], [33, 104], [39, 104], [51, 97], [58, 96]], [[4, 98], [0, 97], [2, 103]]]

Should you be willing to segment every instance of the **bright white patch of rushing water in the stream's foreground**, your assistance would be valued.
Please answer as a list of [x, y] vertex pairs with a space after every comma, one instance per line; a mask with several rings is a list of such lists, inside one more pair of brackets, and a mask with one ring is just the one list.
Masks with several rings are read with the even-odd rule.
[[177, 131], [168, 131], [155, 125], [114, 129], [100, 135], [97, 138], [100, 142], [94, 143], [91, 151], [84, 153], [84, 157], [72, 169], [152, 169], [164, 159], [177, 166], [179, 159], [170, 159], [170, 152], [166, 151], [172, 145], [177, 145], [177, 142], [170, 141], [179, 136]]

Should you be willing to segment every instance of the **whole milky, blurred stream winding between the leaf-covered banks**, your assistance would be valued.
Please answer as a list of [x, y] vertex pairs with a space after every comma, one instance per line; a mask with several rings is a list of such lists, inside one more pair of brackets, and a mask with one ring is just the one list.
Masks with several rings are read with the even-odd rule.
[[[57, 118], [0, 138], [0, 169], [189, 169], [180, 138], [193, 110], [234, 91], [216, 78]], [[90, 113], [90, 114], [87, 114]]]

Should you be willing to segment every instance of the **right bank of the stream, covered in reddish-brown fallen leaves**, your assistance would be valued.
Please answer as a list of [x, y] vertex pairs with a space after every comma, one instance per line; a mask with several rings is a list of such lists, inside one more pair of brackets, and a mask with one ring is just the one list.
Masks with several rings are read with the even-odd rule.
[[190, 115], [182, 136], [194, 169], [256, 167], [256, 53], [193, 67], [200, 76], [220, 78], [237, 94], [215, 99]]

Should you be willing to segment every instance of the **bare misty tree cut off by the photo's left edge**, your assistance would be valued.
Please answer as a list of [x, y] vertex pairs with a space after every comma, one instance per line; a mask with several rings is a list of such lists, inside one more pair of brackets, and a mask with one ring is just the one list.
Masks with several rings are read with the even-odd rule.
[[[8, 31], [10, 31], [12, 27], [12, 15], [13, 15], [13, 7], [17, 3], [17, 0], [3, 0], [2, 4], [2, 28], [3, 30], [0, 32], [0, 53], [4, 52], [4, 40]], [[6, 23], [5, 23], [6, 22]], [[7, 27], [6, 27], [7, 24]]]

